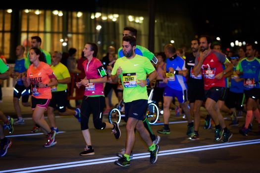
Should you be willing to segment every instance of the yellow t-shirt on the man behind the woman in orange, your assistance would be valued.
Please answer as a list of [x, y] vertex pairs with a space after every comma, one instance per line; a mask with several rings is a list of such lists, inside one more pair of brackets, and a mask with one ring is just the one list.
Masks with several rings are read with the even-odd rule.
[[[70, 77], [68, 68], [64, 66], [62, 63], [58, 63], [56, 66], [52, 65], [51, 68], [57, 80], [62, 80]], [[64, 91], [66, 89], [67, 89], [67, 84], [58, 83], [57, 86], [51, 87], [52, 92]]]

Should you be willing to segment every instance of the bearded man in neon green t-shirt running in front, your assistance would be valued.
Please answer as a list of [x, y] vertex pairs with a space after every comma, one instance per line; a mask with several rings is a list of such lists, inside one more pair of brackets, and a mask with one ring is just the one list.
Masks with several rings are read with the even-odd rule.
[[[124, 87], [123, 97], [125, 102], [125, 115], [127, 117], [127, 138], [125, 154], [122, 158], [115, 161], [114, 164], [121, 167], [130, 166], [130, 153], [135, 142], [135, 129], [149, 146], [151, 153], [150, 162], [153, 164], [157, 161], [159, 146], [152, 142], [143, 124], [143, 120], [148, 101], [146, 86], [150, 80], [156, 79], [157, 72], [147, 58], [135, 54], [136, 39], [134, 37], [125, 36], [123, 38], [122, 47], [124, 57], [115, 62], [111, 72], [111, 79], [116, 82], [120, 77]], [[146, 74], [150, 74], [147, 79]]]

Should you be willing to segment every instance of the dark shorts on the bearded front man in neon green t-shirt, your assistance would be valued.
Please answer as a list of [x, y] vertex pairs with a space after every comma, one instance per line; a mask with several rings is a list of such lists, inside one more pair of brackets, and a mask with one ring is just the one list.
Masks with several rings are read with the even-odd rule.
[[147, 104], [148, 101], [145, 99], [125, 103], [125, 116], [127, 118], [132, 117], [143, 121], [145, 119]]

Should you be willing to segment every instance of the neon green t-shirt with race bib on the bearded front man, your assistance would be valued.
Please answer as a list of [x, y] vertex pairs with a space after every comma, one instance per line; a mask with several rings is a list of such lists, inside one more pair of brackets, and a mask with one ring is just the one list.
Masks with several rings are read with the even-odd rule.
[[149, 59], [135, 55], [132, 59], [125, 56], [116, 60], [111, 75], [115, 75], [118, 67], [121, 67], [121, 82], [124, 87], [124, 102], [131, 102], [139, 99], [148, 99], [147, 88], [137, 85], [138, 80], [146, 80], [146, 75], [155, 71], [155, 67]]

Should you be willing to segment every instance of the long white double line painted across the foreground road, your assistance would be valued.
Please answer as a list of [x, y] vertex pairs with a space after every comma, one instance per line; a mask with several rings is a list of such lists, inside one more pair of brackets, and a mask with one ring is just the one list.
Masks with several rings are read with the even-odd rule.
[[[235, 147], [235, 146], [242, 146], [242, 145], [258, 144], [258, 143], [260, 143], [260, 139], [237, 141], [237, 142], [222, 143], [222, 144], [204, 145], [204, 146], [189, 147], [189, 148], [179, 148], [179, 149], [173, 149], [173, 150], [160, 151], [158, 156], [204, 151], [204, 150], [211, 150], [211, 149], [217, 149], [217, 148], [228, 148], [228, 147]], [[150, 157], [150, 153], [134, 154], [133, 159], [140, 159], [140, 158], [147, 158], [147, 157]], [[32, 173], [32, 172], [39, 172], [39, 171], [49, 171], [49, 170], [57, 170], [57, 169], [64, 169], [64, 168], [109, 163], [109, 162], [113, 162], [117, 159], [118, 159], [118, 157], [108, 157], [108, 158], [93, 159], [93, 160], [87, 160], [87, 161], [77, 161], [77, 162], [68, 162], [68, 163], [62, 163], [62, 164], [44, 165], [44, 166], [39, 166], [39, 167], [5, 170], [5, 171], [0, 171], [0, 173], [9, 173], [9, 172], [14, 172], [14, 171], [15, 172], [22, 171], [22, 172], [18, 172], [18, 173]], [[48, 167], [51, 167], [51, 168], [48, 168]], [[37, 169], [37, 170], [35, 170], [35, 169]], [[31, 171], [28, 171], [28, 170], [31, 170]]]

